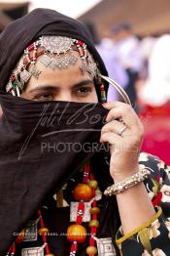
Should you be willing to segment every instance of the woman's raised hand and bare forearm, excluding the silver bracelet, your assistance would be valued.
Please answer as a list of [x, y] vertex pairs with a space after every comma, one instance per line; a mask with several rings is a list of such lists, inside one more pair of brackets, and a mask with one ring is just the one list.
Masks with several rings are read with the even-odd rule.
[[[138, 171], [138, 158], [144, 129], [132, 107], [108, 103], [107, 121], [101, 131], [101, 142], [111, 145], [110, 173], [115, 183]], [[124, 235], [141, 227], [155, 214], [144, 183], [117, 194], [119, 217]]]

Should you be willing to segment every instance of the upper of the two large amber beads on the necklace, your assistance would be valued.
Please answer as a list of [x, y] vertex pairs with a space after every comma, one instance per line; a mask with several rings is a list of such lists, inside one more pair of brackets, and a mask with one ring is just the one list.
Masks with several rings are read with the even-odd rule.
[[93, 197], [92, 189], [86, 184], [78, 184], [73, 195], [77, 201], [89, 201]]

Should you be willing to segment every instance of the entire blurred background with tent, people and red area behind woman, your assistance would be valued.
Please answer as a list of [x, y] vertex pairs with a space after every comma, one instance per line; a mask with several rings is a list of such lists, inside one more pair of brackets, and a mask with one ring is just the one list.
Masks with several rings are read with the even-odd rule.
[[[85, 22], [144, 124], [142, 149], [170, 164], [170, 1], [0, 0], [0, 32], [38, 7]], [[108, 101], [121, 101], [111, 85]]]

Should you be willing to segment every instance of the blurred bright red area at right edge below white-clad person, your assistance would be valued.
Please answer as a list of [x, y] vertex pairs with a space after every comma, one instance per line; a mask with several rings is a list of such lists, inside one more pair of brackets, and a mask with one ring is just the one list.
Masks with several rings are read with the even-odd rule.
[[140, 118], [145, 128], [142, 150], [170, 165], [170, 103], [162, 107], [147, 106]]

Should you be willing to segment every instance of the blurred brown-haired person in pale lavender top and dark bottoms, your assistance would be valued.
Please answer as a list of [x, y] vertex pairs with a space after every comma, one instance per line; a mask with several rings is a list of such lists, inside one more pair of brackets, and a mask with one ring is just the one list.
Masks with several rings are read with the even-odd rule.
[[136, 104], [135, 83], [143, 67], [143, 58], [139, 49], [139, 39], [134, 35], [132, 26], [128, 22], [119, 23], [111, 28], [115, 42], [115, 52], [121, 66], [128, 75], [125, 88], [133, 106]]

